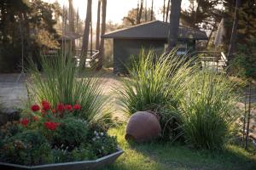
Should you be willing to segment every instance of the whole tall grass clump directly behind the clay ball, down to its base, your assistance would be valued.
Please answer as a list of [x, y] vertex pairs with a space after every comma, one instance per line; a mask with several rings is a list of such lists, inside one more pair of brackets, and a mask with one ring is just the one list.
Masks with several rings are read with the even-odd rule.
[[177, 108], [183, 98], [190, 76], [197, 66], [194, 59], [170, 54], [155, 55], [141, 51], [129, 69], [122, 88], [117, 89], [123, 111], [132, 115], [137, 111], [154, 111], [160, 117], [161, 139], [174, 140], [180, 136]]

